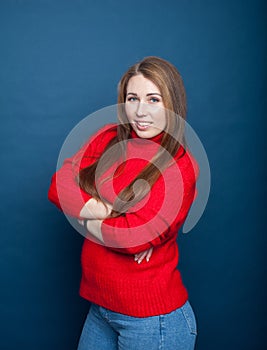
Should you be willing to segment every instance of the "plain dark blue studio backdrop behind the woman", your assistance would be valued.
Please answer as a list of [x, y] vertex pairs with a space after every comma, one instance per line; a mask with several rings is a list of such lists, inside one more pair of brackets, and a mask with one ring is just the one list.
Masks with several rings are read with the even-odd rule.
[[196, 348], [264, 349], [264, 1], [2, 0], [0, 47], [1, 350], [77, 346], [83, 238], [47, 190], [70, 130], [147, 55], [180, 70], [211, 167], [204, 215], [179, 238]]

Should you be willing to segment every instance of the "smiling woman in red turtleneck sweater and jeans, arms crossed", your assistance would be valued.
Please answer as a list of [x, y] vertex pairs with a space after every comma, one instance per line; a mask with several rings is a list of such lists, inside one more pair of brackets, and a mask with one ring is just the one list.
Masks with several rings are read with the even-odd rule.
[[168, 61], [123, 75], [117, 125], [54, 174], [49, 199], [87, 232], [80, 294], [91, 302], [79, 350], [193, 349], [196, 321], [177, 269], [177, 233], [196, 196], [186, 97]]

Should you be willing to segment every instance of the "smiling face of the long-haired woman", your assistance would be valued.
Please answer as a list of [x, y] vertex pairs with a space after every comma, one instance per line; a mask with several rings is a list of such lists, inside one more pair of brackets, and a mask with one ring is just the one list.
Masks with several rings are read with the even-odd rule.
[[151, 138], [166, 127], [166, 114], [158, 87], [142, 74], [127, 85], [125, 111], [129, 123], [141, 138]]

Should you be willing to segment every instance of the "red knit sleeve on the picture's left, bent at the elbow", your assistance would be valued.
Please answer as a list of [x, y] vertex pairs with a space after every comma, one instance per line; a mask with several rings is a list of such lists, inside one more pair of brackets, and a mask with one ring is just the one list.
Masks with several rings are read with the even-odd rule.
[[98, 131], [76, 154], [65, 159], [62, 167], [52, 176], [48, 199], [69, 216], [79, 218], [84, 204], [92, 198], [79, 187], [76, 176], [101, 155], [106, 143], [115, 136], [114, 132], [106, 132], [109, 128], [110, 125]]

